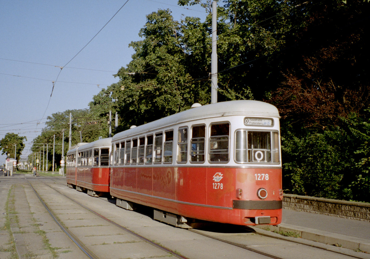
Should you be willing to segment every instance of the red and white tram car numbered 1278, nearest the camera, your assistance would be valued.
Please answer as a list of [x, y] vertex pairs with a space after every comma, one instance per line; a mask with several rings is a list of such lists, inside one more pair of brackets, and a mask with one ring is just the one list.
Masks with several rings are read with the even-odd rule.
[[153, 207], [155, 219], [184, 228], [199, 220], [277, 225], [283, 199], [279, 118], [273, 105], [237, 100], [117, 133], [110, 194], [120, 207]]

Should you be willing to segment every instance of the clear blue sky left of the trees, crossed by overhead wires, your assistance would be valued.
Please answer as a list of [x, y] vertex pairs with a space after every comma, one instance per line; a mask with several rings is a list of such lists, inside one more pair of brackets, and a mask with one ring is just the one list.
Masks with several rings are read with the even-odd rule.
[[[177, 0], [126, 1], [0, 0], [0, 139], [14, 132], [31, 143], [47, 116], [88, 108], [101, 88], [118, 81], [112, 75], [131, 61], [134, 51], [128, 44], [141, 40], [147, 14], [168, 8], [175, 20], [183, 14], [202, 21], [206, 16], [200, 6], [179, 7]], [[4, 161], [0, 156], [0, 164]]]

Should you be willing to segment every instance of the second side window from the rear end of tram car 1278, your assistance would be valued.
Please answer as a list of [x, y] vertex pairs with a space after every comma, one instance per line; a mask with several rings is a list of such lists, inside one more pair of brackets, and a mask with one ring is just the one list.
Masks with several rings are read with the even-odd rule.
[[205, 126], [192, 127], [191, 162], [204, 162], [205, 130]]

